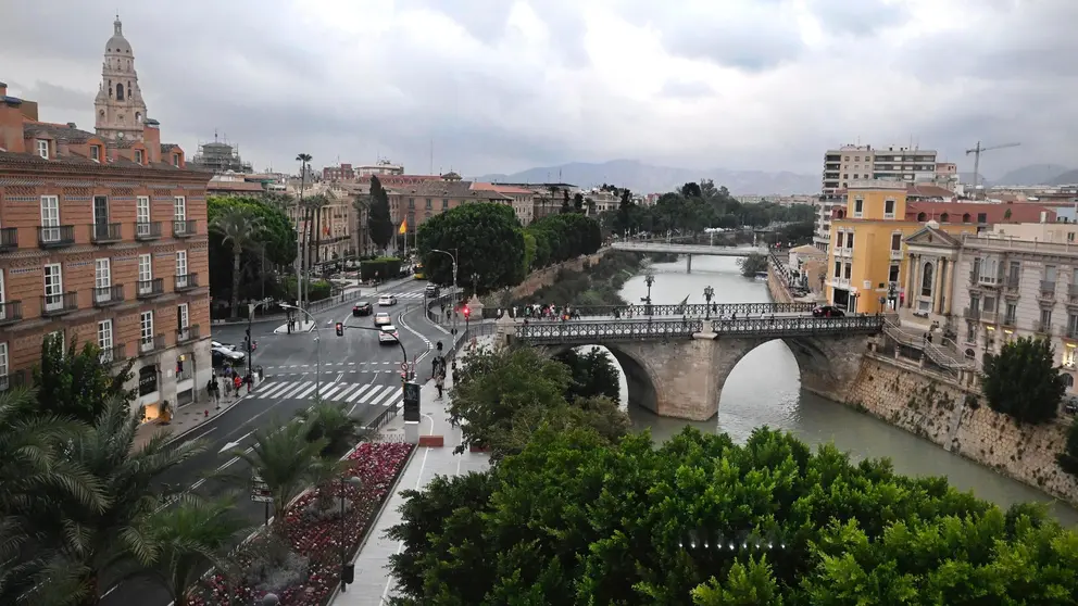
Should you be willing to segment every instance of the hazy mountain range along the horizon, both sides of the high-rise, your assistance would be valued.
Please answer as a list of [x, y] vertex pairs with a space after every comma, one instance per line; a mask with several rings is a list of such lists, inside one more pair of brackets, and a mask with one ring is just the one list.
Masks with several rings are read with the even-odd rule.
[[[963, 173], [961, 177], [963, 182], [973, 182], [972, 173]], [[656, 166], [637, 160], [612, 160], [603, 163], [572, 162], [560, 166], [528, 168], [511, 175], [476, 177], [479, 181], [502, 184], [566, 182], [579, 187], [611, 184], [627, 187], [637, 193], [673, 191], [686, 182], [699, 182], [701, 179], [713, 179], [716, 187], [726, 186], [730, 193], [739, 195], [791, 195], [819, 192], [818, 175], [726, 168], [695, 171]], [[987, 186], [1069, 185], [1078, 182], [1078, 169], [1055, 164], [1031, 164], [995, 179], [986, 179], [981, 176], [978, 182]]]

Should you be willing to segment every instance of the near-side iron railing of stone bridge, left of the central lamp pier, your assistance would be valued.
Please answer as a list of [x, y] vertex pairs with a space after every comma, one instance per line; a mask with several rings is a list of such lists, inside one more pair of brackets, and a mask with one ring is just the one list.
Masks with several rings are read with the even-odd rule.
[[521, 325], [517, 339], [529, 344], [651, 339], [688, 339], [703, 329], [700, 319], [566, 321]]

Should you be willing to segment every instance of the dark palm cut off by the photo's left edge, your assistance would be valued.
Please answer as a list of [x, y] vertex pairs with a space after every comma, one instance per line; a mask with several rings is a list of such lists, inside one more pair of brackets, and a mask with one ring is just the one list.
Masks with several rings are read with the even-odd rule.
[[36, 390], [0, 393], [0, 604], [21, 602], [30, 578], [46, 565], [37, 548], [34, 513], [50, 494], [100, 514], [109, 504], [101, 481], [63, 445], [86, 424], [42, 415]]

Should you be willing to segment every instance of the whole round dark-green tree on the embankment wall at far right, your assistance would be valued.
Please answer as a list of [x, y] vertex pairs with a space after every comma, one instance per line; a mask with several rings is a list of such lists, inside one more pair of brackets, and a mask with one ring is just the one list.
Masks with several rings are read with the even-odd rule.
[[981, 391], [988, 405], [1020, 422], [1054, 419], [1066, 390], [1048, 339], [1023, 337], [985, 356]]

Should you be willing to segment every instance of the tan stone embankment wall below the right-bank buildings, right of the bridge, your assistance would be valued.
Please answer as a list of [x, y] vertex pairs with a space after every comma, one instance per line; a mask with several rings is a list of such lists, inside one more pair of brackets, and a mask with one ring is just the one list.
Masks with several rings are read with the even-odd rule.
[[976, 390], [913, 363], [865, 354], [848, 403], [944, 450], [1078, 505], [1078, 480], [1055, 463], [1067, 425], [1017, 425]]

